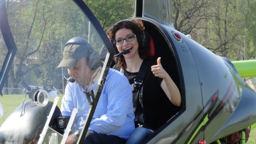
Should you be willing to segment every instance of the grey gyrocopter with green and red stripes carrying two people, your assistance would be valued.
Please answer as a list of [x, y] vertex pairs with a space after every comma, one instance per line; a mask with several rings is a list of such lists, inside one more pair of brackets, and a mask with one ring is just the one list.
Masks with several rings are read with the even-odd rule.
[[[182, 106], [174, 110], [174, 115], [170, 117], [170, 120], [143, 143], [246, 143], [250, 130], [256, 123], [256, 92], [244, 82], [243, 78], [256, 76], [256, 62], [254, 60], [243, 61], [242, 66], [239, 65], [239, 62], [233, 63], [227, 58], [210, 52], [193, 39], [175, 30], [172, 24], [170, 0], [136, 0], [135, 2], [135, 14], [130, 19], [140, 19], [144, 22], [146, 31], [151, 37], [152, 58], [162, 58], [163, 67], [170, 74], [182, 95]], [[57, 31], [70, 34], [66, 37], [67, 39], [74, 36], [87, 36], [90, 44], [98, 48], [97, 51], [104, 62], [101, 76], [98, 79], [98, 90], [93, 92], [94, 100], [98, 100], [115, 54], [102, 26], [82, 0], [54, 0], [48, 4], [40, 3], [38, 0], [36, 5], [35, 3], [9, 2], [9, 4], [13, 4], [12, 6], [27, 4], [24, 9], [20, 10], [21, 12], [29, 8], [45, 10], [34, 15], [36, 20], [48, 20], [46, 17], [49, 16], [47, 12], [50, 10], [54, 10], [58, 14], [63, 13], [63, 20], [76, 17], [77, 21], [70, 21], [67, 25], [61, 23], [60, 18], [54, 16], [50, 22], [52, 25], [58, 25], [56, 34]], [[6, 7], [6, 0], [0, 0], [1, 38], [5, 44], [4, 48], [8, 50], [0, 72], [1, 95], [3, 95], [2, 89], [16, 51], [21, 47], [20, 43], [14, 41], [14, 34], [10, 30], [8, 20], [12, 17], [12, 10], [10, 7], [8, 7], [9, 9]], [[33, 17], [30, 14], [26, 16]], [[32, 22], [31, 18], [28, 18], [27, 22]], [[56, 22], [54, 19], [56, 21], [58, 19], [60, 23], [54, 23]], [[37, 22], [36, 24], [42, 23]], [[89, 27], [88, 24], [90, 24], [90, 31], [92, 32], [90, 39], [86, 31]], [[68, 27], [74, 28], [68, 31]], [[36, 34], [33, 35], [33, 33], [30, 36], [34, 36], [33, 42], [35, 43], [41, 38]], [[26, 38], [24, 37], [24, 40]], [[61, 39], [61, 37], [58, 38]], [[58, 48], [60, 49], [60, 47]], [[243, 66], [246, 64], [248, 66], [244, 68]], [[247, 70], [243, 71], [243, 69]], [[56, 105], [59, 97], [56, 96], [51, 102], [48, 95], [52, 90], [48, 86], [31, 85], [25, 82], [22, 82], [22, 85], [26, 88], [31, 100], [20, 104], [0, 126], [0, 144], [64, 144], [70, 130], [72, 130], [76, 110], [72, 112], [69, 121], [61, 119], [60, 108]], [[82, 139], [88, 130], [95, 109], [96, 105], [91, 104], [91, 111], [78, 143], [83, 142]], [[65, 124], [65, 131], [60, 124]]]

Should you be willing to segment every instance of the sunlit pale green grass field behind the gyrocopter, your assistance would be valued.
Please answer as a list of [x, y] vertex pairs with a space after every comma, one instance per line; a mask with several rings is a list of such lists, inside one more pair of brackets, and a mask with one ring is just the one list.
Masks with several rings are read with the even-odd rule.
[[[60, 108], [62, 95], [58, 95], [60, 97], [57, 106]], [[4, 109], [4, 115], [0, 118], [0, 126], [4, 122], [4, 120], [14, 111], [20, 104], [22, 104], [24, 99], [24, 95], [4, 95], [0, 96], [0, 102], [2, 103]], [[29, 100], [28, 96], [25, 101]], [[54, 101], [54, 98], [50, 98], [51, 101]], [[246, 144], [256, 144], [256, 128], [252, 129], [250, 132], [250, 138]]]

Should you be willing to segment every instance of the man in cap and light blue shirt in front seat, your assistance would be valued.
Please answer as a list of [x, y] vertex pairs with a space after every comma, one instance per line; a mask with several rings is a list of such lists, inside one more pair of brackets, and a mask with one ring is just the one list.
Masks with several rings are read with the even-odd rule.
[[[90, 105], [83, 91], [96, 89], [100, 75], [98, 52], [80, 37], [70, 39], [63, 52], [63, 60], [58, 68], [66, 67], [75, 82], [68, 82], [62, 99], [62, 116], [70, 116], [73, 108], [78, 108], [74, 120], [75, 127], [82, 130]], [[134, 130], [132, 90], [127, 78], [110, 68], [94, 116], [84, 143], [124, 144]], [[71, 134], [66, 143], [78, 140]]]

